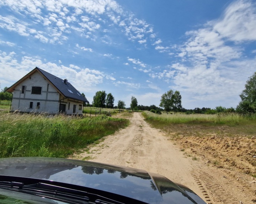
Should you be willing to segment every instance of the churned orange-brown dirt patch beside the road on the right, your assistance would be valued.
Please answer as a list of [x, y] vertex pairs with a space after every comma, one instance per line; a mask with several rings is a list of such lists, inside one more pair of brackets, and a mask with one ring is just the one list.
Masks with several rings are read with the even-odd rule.
[[236, 169], [256, 176], [256, 137], [204, 136], [182, 137], [179, 143], [218, 168]]

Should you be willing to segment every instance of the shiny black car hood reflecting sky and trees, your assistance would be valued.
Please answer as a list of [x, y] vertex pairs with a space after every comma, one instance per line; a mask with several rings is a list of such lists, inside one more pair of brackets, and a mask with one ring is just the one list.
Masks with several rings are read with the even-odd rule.
[[161, 175], [89, 161], [42, 157], [2, 158], [0, 175], [69, 183], [145, 203], [204, 203], [190, 189], [178, 186]]

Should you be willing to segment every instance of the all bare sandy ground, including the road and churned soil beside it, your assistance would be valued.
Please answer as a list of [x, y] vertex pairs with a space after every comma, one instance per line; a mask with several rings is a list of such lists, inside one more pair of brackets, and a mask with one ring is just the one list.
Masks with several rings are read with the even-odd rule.
[[[209, 204], [256, 203], [256, 179], [248, 174], [248, 171], [253, 173], [253, 166], [247, 164], [246, 157], [240, 157], [249, 153], [248, 158], [254, 159], [256, 150], [251, 148], [256, 147], [255, 138], [242, 143], [239, 139], [232, 143], [218, 136], [207, 136], [202, 140], [198, 137], [170, 138], [170, 135], [151, 128], [140, 113], [134, 113], [126, 129], [70, 158], [158, 173], [191, 188]], [[231, 152], [230, 155], [235, 158], [226, 155], [229, 147], [234, 149], [235, 154]]]

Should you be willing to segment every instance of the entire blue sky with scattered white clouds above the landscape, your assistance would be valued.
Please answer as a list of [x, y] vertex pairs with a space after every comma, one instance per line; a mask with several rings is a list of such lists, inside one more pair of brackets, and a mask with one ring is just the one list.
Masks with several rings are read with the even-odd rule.
[[0, 1], [0, 85], [35, 67], [130, 106], [236, 107], [256, 72], [252, 0]]

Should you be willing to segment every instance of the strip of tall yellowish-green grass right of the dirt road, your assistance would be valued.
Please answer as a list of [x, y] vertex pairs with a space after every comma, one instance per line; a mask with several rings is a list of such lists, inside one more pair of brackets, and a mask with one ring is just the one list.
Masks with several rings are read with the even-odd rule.
[[166, 114], [145, 111], [143, 116], [155, 128], [167, 131], [223, 131], [230, 134], [256, 134], [256, 115], [244, 117], [236, 113]]

